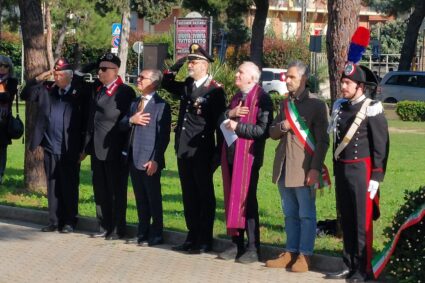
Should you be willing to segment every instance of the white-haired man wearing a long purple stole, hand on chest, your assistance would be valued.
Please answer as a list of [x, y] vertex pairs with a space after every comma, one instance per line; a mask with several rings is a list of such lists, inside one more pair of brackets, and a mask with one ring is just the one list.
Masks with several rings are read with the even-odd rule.
[[[273, 120], [270, 96], [258, 84], [260, 70], [252, 62], [239, 66], [235, 85], [239, 88], [222, 117], [226, 138], [221, 155], [226, 228], [233, 246], [219, 258], [251, 263], [259, 259], [260, 229], [257, 202], [259, 171], [263, 165], [268, 129]], [[244, 243], [246, 233], [248, 243]]]

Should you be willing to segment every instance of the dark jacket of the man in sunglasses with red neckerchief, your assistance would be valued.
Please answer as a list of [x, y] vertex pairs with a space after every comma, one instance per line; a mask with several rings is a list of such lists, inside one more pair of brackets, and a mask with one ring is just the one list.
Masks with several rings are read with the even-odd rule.
[[102, 161], [120, 160], [126, 135], [120, 132], [118, 124], [128, 112], [136, 94], [130, 86], [122, 84], [111, 96], [104, 94], [97, 99], [101, 85], [96, 82], [94, 86], [97, 88], [92, 96], [86, 152], [95, 154]]

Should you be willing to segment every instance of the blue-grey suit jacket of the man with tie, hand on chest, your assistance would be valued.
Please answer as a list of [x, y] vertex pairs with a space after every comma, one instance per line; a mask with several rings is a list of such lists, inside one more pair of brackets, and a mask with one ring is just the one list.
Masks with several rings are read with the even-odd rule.
[[[146, 126], [130, 125], [130, 117], [137, 112], [140, 102], [137, 98], [130, 106], [130, 111], [121, 120], [121, 130], [133, 129], [132, 160], [134, 166], [139, 170], [146, 170], [143, 164], [150, 160], [158, 163], [158, 169], [165, 167], [164, 153], [170, 142], [171, 109], [170, 105], [155, 93], [145, 105], [144, 113], [150, 113], [150, 123]], [[128, 135], [131, 138], [131, 135]]]

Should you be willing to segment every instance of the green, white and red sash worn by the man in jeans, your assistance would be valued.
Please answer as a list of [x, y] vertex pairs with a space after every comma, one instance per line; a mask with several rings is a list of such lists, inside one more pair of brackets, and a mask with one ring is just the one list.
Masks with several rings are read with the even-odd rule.
[[[295, 136], [303, 144], [305, 150], [308, 154], [314, 155], [316, 149], [316, 142], [314, 137], [310, 132], [310, 129], [305, 124], [304, 120], [301, 118], [298, 113], [295, 104], [290, 99], [284, 101], [284, 111], [286, 119], [291, 125], [292, 131], [295, 133]], [[329, 177], [329, 171], [325, 164], [323, 164], [322, 172], [319, 175], [319, 180], [314, 184], [315, 189], [320, 189], [324, 187], [329, 187], [331, 185], [331, 178]]]

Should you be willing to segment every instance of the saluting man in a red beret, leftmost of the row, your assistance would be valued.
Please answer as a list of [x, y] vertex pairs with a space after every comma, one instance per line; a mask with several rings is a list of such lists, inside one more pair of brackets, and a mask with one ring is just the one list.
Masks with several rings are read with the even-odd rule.
[[[44, 81], [53, 74], [54, 83]], [[38, 103], [38, 114], [29, 149], [44, 149], [47, 178], [49, 225], [43, 232], [73, 231], [78, 214], [80, 156], [90, 94], [80, 77], [74, 76], [66, 59], [59, 59], [48, 71], [27, 82], [22, 99]]]

